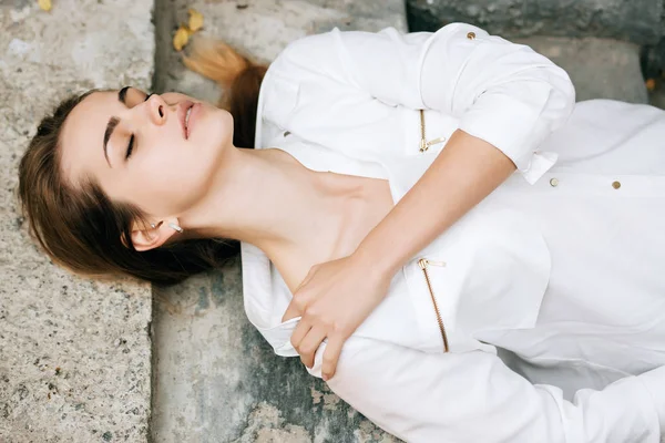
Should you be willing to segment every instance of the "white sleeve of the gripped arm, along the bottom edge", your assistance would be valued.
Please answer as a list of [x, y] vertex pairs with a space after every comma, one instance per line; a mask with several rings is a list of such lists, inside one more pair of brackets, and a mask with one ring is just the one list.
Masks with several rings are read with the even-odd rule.
[[[324, 350], [309, 370], [316, 377]], [[569, 402], [492, 353], [424, 353], [351, 337], [328, 385], [407, 442], [659, 443], [665, 426], [665, 367]]]

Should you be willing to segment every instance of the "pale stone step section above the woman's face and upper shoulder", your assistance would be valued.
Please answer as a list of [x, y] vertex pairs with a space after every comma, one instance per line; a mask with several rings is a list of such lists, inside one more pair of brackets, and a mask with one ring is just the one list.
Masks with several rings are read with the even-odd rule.
[[187, 91], [215, 101], [219, 91], [212, 82], [187, 71], [171, 45], [177, 23], [186, 22], [187, 9], [204, 14], [203, 34], [219, 37], [258, 62], [273, 60], [287, 43], [307, 34], [385, 27], [407, 30], [402, 0], [380, 3], [351, 0], [156, 0], [157, 37], [155, 91]]

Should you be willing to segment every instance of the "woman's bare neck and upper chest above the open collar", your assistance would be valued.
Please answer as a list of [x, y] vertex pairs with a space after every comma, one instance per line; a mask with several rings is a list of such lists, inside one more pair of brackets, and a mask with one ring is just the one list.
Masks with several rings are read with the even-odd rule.
[[190, 234], [249, 243], [270, 259], [335, 247], [350, 189], [330, 186], [330, 174], [275, 148], [234, 147], [222, 163], [206, 198], [182, 217]]

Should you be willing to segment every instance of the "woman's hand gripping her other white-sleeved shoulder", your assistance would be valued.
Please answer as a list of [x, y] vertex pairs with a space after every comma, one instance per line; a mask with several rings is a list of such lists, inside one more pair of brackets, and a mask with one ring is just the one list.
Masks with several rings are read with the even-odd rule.
[[386, 297], [391, 277], [350, 255], [313, 266], [296, 288], [282, 321], [303, 317], [290, 342], [308, 368], [328, 338], [324, 381], [335, 374], [344, 342]]

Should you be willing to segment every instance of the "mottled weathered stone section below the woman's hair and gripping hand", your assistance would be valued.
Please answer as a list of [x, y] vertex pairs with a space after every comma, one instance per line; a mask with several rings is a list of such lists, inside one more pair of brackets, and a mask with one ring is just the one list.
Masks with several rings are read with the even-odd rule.
[[241, 259], [154, 291], [153, 441], [398, 442], [273, 353], [243, 308]]

